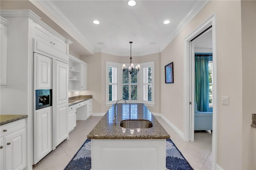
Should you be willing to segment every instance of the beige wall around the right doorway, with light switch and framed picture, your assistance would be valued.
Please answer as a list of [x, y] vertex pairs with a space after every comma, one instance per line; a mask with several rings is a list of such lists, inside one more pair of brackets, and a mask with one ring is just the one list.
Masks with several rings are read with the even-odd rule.
[[[242, 24], [240, 1], [210, 1], [161, 53], [161, 68], [174, 62], [174, 84], [161, 83], [161, 113], [180, 131], [183, 123], [184, 39], [216, 13], [218, 68], [217, 164], [223, 169], [243, 169], [242, 141]], [[255, 47], [255, 46], [254, 46]], [[255, 62], [253, 62], [255, 63]], [[254, 71], [255, 72], [255, 71]], [[255, 75], [254, 75], [255, 76]], [[161, 70], [164, 79], [164, 70]], [[221, 104], [229, 96], [229, 105]], [[249, 147], [249, 146], [247, 146]], [[252, 163], [249, 160], [248, 163]]]

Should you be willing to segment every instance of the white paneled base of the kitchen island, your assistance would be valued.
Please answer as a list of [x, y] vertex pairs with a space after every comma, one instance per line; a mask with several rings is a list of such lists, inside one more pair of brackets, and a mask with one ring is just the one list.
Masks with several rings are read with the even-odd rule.
[[165, 170], [166, 139], [92, 139], [92, 170]]

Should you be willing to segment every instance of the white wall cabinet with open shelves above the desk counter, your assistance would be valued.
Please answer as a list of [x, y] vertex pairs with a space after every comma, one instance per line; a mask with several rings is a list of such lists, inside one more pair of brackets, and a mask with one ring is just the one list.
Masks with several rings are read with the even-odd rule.
[[69, 55], [69, 92], [87, 90], [87, 63]]

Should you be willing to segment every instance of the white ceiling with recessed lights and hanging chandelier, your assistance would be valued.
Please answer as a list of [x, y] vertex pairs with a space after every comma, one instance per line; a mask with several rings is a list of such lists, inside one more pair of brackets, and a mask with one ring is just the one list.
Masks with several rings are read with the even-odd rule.
[[[202, 0], [137, 0], [132, 7], [127, 2], [52, 0], [44, 4], [65, 18], [88, 51], [118, 56], [130, 55], [129, 41], [133, 41], [132, 56], [162, 51], [206, 4]], [[166, 19], [171, 22], [164, 25]], [[95, 25], [93, 20], [100, 24]]]

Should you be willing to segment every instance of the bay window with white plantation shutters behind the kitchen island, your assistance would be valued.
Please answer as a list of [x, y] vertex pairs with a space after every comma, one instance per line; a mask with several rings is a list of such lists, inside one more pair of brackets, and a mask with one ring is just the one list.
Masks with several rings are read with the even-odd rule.
[[106, 105], [124, 99], [154, 106], [154, 62], [140, 66], [138, 74], [130, 74], [123, 73], [122, 64], [106, 62]]

